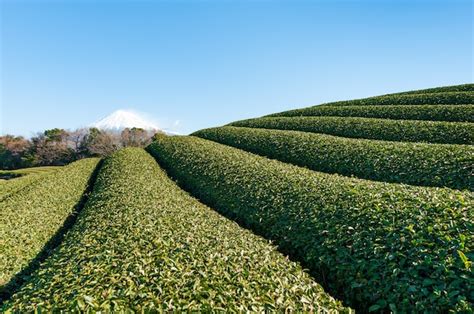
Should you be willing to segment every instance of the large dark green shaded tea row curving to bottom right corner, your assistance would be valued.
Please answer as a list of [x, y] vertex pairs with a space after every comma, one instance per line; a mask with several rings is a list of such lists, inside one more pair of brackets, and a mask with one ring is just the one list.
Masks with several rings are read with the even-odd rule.
[[196, 137], [150, 145], [211, 207], [299, 258], [362, 310], [472, 310], [474, 197], [314, 172]]

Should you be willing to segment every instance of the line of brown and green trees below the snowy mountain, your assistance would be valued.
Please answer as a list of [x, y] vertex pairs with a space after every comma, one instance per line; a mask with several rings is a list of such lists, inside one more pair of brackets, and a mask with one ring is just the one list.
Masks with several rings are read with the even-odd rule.
[[126, 128], [121, 132], [97, 128], [73, 131], [50, 129], [31, 139], [0, 136], [0, 169], [61, 166], [86, 157], [104, 157], [127, 146], [145, 147], [156, 131]]

